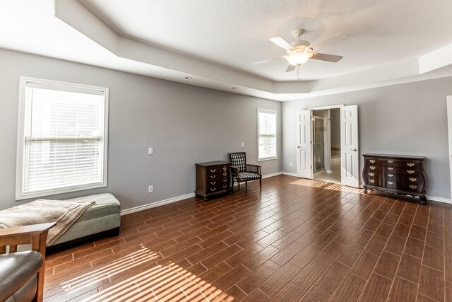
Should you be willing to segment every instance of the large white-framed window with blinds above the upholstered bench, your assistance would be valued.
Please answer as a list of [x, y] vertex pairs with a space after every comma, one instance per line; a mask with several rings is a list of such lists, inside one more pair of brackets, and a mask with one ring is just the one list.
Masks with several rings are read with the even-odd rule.
[[107, 186], [108, 88], [20, 77], [16, 199]]

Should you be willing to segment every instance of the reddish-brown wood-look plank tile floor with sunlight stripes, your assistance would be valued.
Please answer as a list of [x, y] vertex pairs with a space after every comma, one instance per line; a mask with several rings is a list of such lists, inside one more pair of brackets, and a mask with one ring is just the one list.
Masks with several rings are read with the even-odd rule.
[[47, 257], [45, 301], [452, 301], [452, 209], [280, 175], [121, 217]]

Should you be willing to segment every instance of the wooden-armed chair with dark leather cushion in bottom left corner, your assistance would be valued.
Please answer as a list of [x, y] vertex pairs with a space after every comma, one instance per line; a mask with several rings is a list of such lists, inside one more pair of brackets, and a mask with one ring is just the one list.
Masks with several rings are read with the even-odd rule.
[[[0, 228], [0, 272], [7, 274], [0, 275], [0, 301], [42, 301], [47, 233], [55, 224]], [[31, 250], [18, 252], [25, 244]]]

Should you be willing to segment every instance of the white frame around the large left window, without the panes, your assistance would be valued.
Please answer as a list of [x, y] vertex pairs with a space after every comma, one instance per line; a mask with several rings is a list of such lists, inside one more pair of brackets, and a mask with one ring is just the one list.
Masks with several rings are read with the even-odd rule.
[[[25, 161], [27, 160], [25, 136], [27, 133], [27, 127], [30, 127], [29, 120], [26, 115], [30, 117], [30, 106], [26, 98], [26, 88], [28, 84], [37, 86], [46, 86], [51, 88], [54, 86], [55, 90], [64, 91], [92, 91], [93, 93], [99, 93], [104, 95], [104, 127], [102, 134], [102, 149], [103, 149], [103, 161], [102, 161], [102, 181], [95, 184], [76, 185], [71, 187], [61, 187], [52, 190], [40, 190], [37, 192], [23, 192], [23, 178], [25, 177]], [[57, 89], [59, 87], [59, 89]], [[20, 76], [19, 83], [19, 108], [18, 108], [18, 136], [17, 136], [17, 156], [16, 156], [16, 200], [29, 199], [35, 197], [42, 197], [53, 194], [61, 194], [67, 192], [76, 192], [81, 190], [90, 190], [98, 187], [107, 187], [107, 154], [108, 154], [108, 107], [109, 107], [109, 88], [88, 86], [77, 83], [66, 83], [61, 81], [52, 81], [45, 79], [35, 79], [25, 76]], [[29, 111], [27, 111], [29, 110]], [[28, 123], [28, 124], [25, 124]]]

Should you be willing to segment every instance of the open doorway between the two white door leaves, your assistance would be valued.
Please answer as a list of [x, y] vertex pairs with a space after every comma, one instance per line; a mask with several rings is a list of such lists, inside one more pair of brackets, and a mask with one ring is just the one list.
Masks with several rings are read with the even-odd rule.
[[340, 183], [340, 108], [313, 110], [314, 179]]

